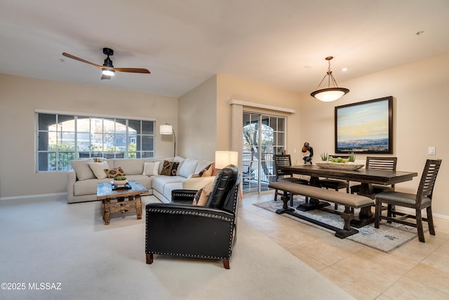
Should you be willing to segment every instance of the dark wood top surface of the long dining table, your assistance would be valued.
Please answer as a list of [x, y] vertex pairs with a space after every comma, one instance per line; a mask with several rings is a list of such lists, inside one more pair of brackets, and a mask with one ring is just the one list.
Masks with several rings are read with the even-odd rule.
[[404, 181], [411, 181], [417, 176], [417, 172], [408, 171], [389, 171], [377, 169], [358, 169], [356, 171], [344, 169], [326, 169], [314, 164], [300, 164], [290, 167], [279, 167], [284, 171], [290, 171], [294, 174], [308, 175], [311, 177], [326, 177], [342, 179], [345, 181], [356, 181], [360, 183], [375, 183], [382, 185], [391, 185]]

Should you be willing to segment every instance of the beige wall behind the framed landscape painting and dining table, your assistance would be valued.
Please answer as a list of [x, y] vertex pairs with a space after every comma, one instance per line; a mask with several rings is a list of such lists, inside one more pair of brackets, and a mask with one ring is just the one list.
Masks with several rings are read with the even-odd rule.
[[[434, 213], [449, 216], [449, 54], [403, 65], [357, 79], [338, 82], [350, 92], [335, 102], [323, 103], [302, 94], [301, 137], [320, 152], [334, 152], [334, 107], [363, 100], [394, 97], [394, 153], [398, 170], [417, 171], [413, 181], [399, 183], [397, 190], [415, 193], [426, 159], [443, 159], [434, 190]], [[338, 78], [336, 78], [338, 80]], [[428, 155], [429, 146], [436, 155]], [[358, 155], [364, 163], [366, 155]]]

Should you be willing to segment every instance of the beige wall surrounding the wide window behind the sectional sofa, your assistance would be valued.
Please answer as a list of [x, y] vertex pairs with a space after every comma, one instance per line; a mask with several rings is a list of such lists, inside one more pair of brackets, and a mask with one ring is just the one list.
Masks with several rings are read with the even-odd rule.
[[[65, 193], [67, 174], [34, 171], [34, 111], [156, 119], [156, 156], [172, 156], [159, 124], [177, 126], [177, 99], [0, 74], [0, 198]], [[173, 113], [175, 112], [175, 113]]]

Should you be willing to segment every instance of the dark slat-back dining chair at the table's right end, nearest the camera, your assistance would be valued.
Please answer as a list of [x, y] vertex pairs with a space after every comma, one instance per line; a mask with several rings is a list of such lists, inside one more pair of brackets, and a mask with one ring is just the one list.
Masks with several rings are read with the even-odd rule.
[[[379, 228], [380, 220], [387, 220], [389, 223], [395, 222], [412, 226], [417, 228], [420, 242], [425, 242], [422, 221], [427, 221], [427, 224], [429, 225], [429, 233], [431, 235], [435, 235], [431, 204], [432, 195], [434, 194], [436, 175], [438, 175], [440, 166], [441, 159], [427, 159], [416, 194], [395, 191], [378, 193], [375, 196], [376, 209], [374, 227]], [[382, 203], [387, 204], [387, 216], [382, 215]], [[415, 214], [406, 214], [401, 211], [397, 211], [397, 207], [415, 209]], [[422, 217], [422, 209], [427, 210], [427, 218]], [[415, 219], [416, 221], [405, 221], [406, 219]]]

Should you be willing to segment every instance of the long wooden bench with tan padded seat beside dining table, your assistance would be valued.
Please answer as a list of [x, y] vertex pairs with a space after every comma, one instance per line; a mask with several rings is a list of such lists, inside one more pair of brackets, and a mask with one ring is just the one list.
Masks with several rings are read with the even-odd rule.
[[[373, 214], [371, 213], [371, 207], [374, 202], [373, 199], [369, 197], [365, 197], [362, 195], [349, 194], [349, 193], [341, 193], [336, 190], [325, 190], [323, 188], [319, 188], [311, 185], [302, 185], [297, 183], [290, 183], [287, 181], [276, 181], [274, 183], [269, 183], [269, 188], [274, 188], [278, 190], [283, 190], [286, 193], [290, 194], [287, 197], [282, 197], [283, 208], [278, 209], [276, 214], [290, 214], [291, 216], [296, 216], [297, 218], [309, 221], [311, 223], [317, 224], [319, 226], [323, 226], [324, 228], [328, 228], [330, 230], [335, 231], [335, 236], [344, 238], [349, 237], [350, 235], [354, 235], [358, 233], [358, 230], [351, 228], [351, 221], [358, 221], [358, 227], [365, 226], [368, 223], [373, 222]], [[318, 204], [317, 202], [313, 202], [313, 200], [324, 200], [327, 202], [333, 202], [335, 204], [344, 205], [344, 211], [342, 213], [338, 212], [342, 219], [344, 220], [343, 229], [337, 228], [334, 226], [330, 226], [327, 223], [323, 223], [321, 221], [316, 221], [314, 219], [310, 219], [307, 216], [303, 216], [297, 214], [295, 209], [288, 207], [288, 200], [293, 198], [293, 195], [303, 195], [311, 198], [312, 205], [317, 204], [317, 208], [323, 209], [323, 207], [328, 206], [328, 203]], [[310, 207], [310, 204], [308, 204]], [[298, 207], [300, 209], [300, 207]], [[354, 214], [354, 209], [361, 209], [358, 216]], [[307, 210], [307, 209], [301, 209]], [[337, 212], [335, 210], [325, 209], [330, 212]], [[361, 226], [360, 226], [361, 225]]]

